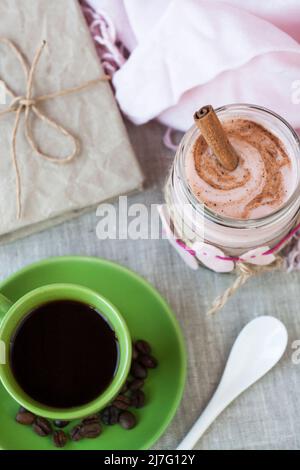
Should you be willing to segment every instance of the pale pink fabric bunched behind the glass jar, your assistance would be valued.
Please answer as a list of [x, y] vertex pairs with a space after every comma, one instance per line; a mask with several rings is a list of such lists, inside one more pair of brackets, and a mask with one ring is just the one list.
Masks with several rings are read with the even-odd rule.
[[186, 130], [204, 104], [248, 102], [300, 128], [299, 0], [89, 3], [111, 17], [131, 52], [113, 83], [134, 123], [158, 118]]

